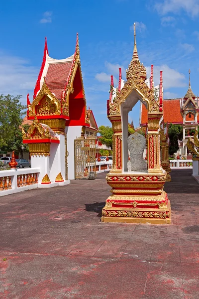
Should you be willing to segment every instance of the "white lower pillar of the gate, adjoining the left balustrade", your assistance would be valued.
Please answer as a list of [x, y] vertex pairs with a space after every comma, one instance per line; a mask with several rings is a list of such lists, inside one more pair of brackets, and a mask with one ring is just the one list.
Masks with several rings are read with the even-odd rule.
[[40, 173], [38, 175], [38, 183], [40, 184], [42, 178], [50, 173], [50, 157], [47, 156], [31, 156], [31, 167], [32, 168], [40, 168]]

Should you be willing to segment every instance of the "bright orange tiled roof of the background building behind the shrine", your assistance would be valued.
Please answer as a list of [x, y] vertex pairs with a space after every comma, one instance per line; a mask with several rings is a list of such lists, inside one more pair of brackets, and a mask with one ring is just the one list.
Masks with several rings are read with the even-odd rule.
[[[164, 122], [183, 123], [183, 117], [180, 113], [180, 99], [163, 100]], [[147, 109], [142, 104], [141, 124], [148, 123]]]

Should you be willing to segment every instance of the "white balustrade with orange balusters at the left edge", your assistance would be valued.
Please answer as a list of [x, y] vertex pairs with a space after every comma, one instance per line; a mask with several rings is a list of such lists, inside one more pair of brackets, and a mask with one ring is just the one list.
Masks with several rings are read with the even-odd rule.
[[0, 171], [0, 196], [38, 187], [39, 168]]

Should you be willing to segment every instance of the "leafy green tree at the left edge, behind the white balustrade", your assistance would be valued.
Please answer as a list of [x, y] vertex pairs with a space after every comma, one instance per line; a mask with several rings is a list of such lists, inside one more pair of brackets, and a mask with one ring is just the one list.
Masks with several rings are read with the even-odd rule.
[[[20, 102], [21, 96], [0, 95], [0, 149], [14, 150], [23, 157], [28, 150], [27, 145], [22, 143], [22, 121], [26, 114], [26, 106]], [[27, 131], [27, 125], [24, 126]]]

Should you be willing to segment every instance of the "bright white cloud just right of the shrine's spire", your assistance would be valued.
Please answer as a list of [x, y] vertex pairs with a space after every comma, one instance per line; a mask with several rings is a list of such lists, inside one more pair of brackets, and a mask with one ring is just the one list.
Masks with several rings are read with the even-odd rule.
[[[151, 67], [147, 66], [147, 74], [151, 73]], [[177, 70], [170, 68], [168, 65], [163, 64], [160, 66], [154, 65], [154, 85], [160, 83], [160, 71], [163, 71], [163, 87], [164, 89], [169, 89], [172, 87], [185, 87], [187, 84], [185, 82], [185, 75], [179, 73]]]

